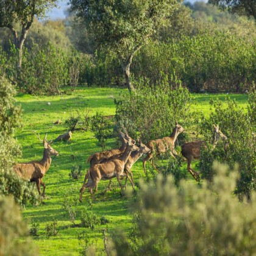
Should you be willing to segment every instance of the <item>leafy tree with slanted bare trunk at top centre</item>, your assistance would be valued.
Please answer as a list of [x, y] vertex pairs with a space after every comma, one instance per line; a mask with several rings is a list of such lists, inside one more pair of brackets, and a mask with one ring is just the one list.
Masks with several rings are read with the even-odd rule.
[[179, 0], [70, 2], [71, 9], [94, 33], [99, 45], [116, 52], [130, 91], [134, 90], [130, 82], [130, 65], [134, 55], [180, 6]]

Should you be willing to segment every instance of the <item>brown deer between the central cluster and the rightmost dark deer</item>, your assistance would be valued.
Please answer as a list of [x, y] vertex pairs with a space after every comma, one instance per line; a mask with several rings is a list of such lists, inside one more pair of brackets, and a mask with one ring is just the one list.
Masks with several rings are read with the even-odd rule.
[[[152, 157], [154, 156], [154, 152], [157, 151], [157, 154], [170, 152], [171, 156], [174, 157], [174, 154], [177, 155], [176, 151], [174, 150], [174, 143], [177, 140], [177, 137], [180, 133], [184, 132], [184, 128], [180, 126], [176, 121], [176, 126], [172, 130], [170, 137], [163, 137], [157, 140], [151, 140], [147, 144], [147, 147], [151, 149], [151, 152], [143, 159], [143, 169], [144, 173], [146, 174], [146, 162], [151, 160], [151, 165], [155, 168], [156, 166], [152, 162]], [[175, 158], [175, 157], [174, 157]]]

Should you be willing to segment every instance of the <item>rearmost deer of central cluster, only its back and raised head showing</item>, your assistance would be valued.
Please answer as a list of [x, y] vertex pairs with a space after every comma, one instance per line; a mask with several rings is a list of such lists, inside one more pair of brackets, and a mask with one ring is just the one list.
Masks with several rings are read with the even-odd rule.
[[136, 142], [135, 140], [129, 137], [127, 132], [126, 134], [124, 134], [123, 132], [119, 131], [119, 137], [122, 143], [119, 149], [110, 149], [107, 151], [94, 153], [93, 155], [90, 155], [90, 157], [87, 158], [87, 163], [90, 162], [90, 166], [93, 166], [96, 165], [97, 163], [101, 163], [104, 160], [115, 157], [115, 155], [123, 154], [124, 150], [126, 149], [126, 143], [128, 140], [131, 140], [132, 143]]

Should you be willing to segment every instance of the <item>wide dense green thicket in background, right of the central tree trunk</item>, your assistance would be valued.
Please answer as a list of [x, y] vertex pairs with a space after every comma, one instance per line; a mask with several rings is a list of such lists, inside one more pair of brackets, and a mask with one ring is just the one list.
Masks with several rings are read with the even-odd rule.
[[164, 73], [191, 91], [244, 91], [256, 80], [255, 48], [255, 40], [228, 32], [198, 34], [148, 44], [131, 69], [136, 79], [147, 77], [153, 85]]

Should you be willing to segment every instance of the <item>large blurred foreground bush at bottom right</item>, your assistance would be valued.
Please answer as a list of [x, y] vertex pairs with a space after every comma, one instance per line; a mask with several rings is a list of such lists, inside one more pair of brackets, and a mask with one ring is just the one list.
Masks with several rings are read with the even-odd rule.
[[[252, 254], [256, 245], [255, 199], [243, 203], [232, 195], [237, 170], [215, 165], [212, 183], [181, 182], [158, 176], [141, 183], [129, 239], [115, 232], [115, 252], [127, 255], [239, 255]], [[229, 174], [228, 174], [229, 173]]]

